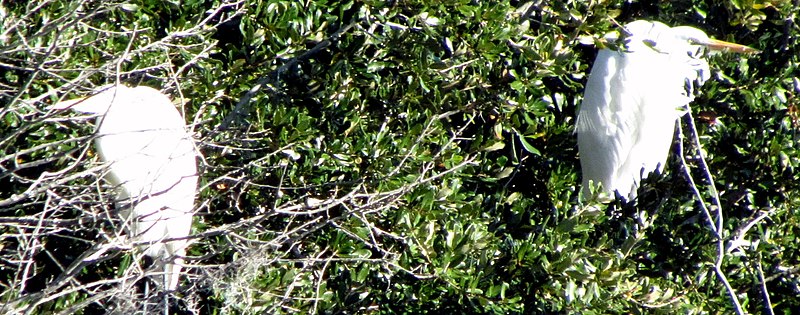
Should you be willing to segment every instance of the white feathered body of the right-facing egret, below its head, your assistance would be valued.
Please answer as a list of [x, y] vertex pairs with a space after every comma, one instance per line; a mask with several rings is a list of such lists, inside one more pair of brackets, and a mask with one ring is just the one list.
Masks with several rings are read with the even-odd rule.
[[674, 89], [658, 75], [662, 59], [655, 53], [598, 54], [576, 129], [584, 187], [592, 181], [608, 194], [632, 199], [641, 178], [663, 167], [682, 104], [668, 98]]

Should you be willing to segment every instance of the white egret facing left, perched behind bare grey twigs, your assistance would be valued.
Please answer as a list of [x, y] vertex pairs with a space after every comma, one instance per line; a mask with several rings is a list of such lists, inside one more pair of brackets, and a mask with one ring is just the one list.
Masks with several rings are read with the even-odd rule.
[[191, 135], [167, 96], [150, 87], [110, 86], [54, 109], [98, 114], [95, 147], [108, 164], [105, 178], [131, 240], [164, 266], [163, 283], [175, 290], [186, 254], [197, 190]]

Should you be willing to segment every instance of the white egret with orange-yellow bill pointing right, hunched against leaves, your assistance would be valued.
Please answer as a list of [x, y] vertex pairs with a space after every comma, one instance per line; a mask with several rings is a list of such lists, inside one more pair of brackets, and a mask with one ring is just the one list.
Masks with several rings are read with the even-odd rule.
[[576, 122], [589, 198], [591, 182], [612, 198], [616, 191], [633, 200], [643, 178], [663, 171], [676, 121], [709, 78], [706, 50], [757, 52], [688, 26], [639, 20], [623, 32], [622, 41], [605, 38], [624, 47], [597, 54]]

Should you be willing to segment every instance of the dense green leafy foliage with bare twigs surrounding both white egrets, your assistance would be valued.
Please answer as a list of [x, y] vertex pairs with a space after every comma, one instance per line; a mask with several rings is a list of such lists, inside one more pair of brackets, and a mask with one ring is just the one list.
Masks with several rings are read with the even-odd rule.
[[[46, 108], [116, 77], [170, 94], [204, 155], [173, 312], [732, 313], [720, 253], [746, 312], [800, 309], [798, 8], [552, 2], [4, 2], [0, 310], [123, 309], [103, 281], [142, 273], [113, 246], [64, 271], [118, 218], [92, 127]], [[710, 57], [692, 104], [721, 251], [675, 155], [637, 205], [579, 201], [595, 45], [640, 18], [763, 51]]]

